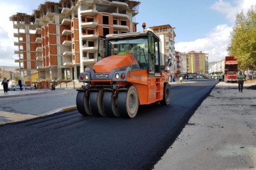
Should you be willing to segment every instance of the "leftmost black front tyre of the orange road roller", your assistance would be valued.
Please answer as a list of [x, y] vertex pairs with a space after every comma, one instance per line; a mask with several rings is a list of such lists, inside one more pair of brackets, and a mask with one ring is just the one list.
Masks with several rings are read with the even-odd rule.
[[79, 113], [84, 116], [92, 116], [93, 113], [89, 107], [89, 96], [84, 91], [78, 91], [76, 95], [76, 107]]

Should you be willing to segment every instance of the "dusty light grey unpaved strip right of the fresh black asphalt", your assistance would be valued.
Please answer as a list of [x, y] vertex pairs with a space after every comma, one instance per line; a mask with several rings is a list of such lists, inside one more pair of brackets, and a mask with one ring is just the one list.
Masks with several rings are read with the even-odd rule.
[[155, 170], [256, 169], [256, 82], [219, 82]]

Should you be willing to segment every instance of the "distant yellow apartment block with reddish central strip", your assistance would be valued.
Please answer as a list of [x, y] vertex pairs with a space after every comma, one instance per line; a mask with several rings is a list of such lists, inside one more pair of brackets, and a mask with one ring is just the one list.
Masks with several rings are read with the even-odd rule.
[[187, 53], [188, 73], [208, 74], [208, 54], [191, 51]]

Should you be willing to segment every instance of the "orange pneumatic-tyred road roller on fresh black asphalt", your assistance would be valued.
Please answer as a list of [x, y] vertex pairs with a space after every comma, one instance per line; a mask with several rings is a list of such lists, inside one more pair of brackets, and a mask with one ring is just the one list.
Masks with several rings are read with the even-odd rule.
[[139, 105], [169, 105], [169, 75], [160, 45], [153, 32], [144, 30], [99, 38], [97, 62], [79, 74], [85, 84], [77, 89], [79, 113], [133, 118]]

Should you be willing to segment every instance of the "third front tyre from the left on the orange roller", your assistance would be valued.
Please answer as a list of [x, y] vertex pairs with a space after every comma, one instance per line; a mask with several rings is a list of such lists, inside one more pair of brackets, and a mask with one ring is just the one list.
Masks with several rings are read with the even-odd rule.
[[103, 95], [103, 109], [106, 115], [110, 117], [120, 117], [118, 108], [117, 108], [117, 97], [113, 96], [112, 91], [105, 91]]

